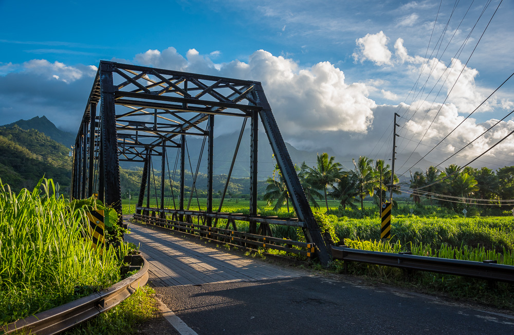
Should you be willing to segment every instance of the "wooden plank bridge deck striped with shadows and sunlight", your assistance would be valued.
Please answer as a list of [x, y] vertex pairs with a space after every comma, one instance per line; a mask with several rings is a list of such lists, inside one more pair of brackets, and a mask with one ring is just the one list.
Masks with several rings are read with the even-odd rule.
[[129, 228], [131, 234], [125, 235], [125, 240], [140, 244], [140, 251], [150, 263], [149, 276], [154, 286], [249, 282], [305, 275], [208, 248], [160, 228], [132, 223]]

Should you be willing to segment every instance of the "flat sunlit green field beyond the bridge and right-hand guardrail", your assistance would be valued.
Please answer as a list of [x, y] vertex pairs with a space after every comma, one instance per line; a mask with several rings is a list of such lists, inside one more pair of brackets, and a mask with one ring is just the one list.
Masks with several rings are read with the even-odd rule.
[[[196, 199], [195, 199], [196, 200]], [[217, 211], [219, 198], [213, 199], [214, 210]], [[169, 200], [168, 200], [169, 201]], [[200, 209], [205, 210], [206, 199], [199, 199]], [[248, 213], [248, 200], [226, 199], [222, 212]], [[166, 202], [165, 202], [166, 204]], [[326, 219], [334, 227], [339, 240], [345, 238], [351, 240], [377, 240], [380, 239], [381, 220], [376, 206], [371, 201], [365, 202], [364, 211], [338, 209], [337, 201], [329, 201], [330, 210]], [[158, 207], [155, 202], [150, 207]], [[178, 207], [178, 203], [177, 203]], [[171, 206], [173, 208], [173, 206]], [[272, 211], [272, 206], [267, 206], [265, 201], [258, 201], [259, 212], [262, 215], [294, 216], [287, 213], [284, 206], [278, 212]], [[190, 209], [197, 210], [198, 202], [192, 202]], [[430, 213], [425, 216], [410, 214], [411, 207], [400, 203], [396, 213], [393, 211], [391, 242], [406, 245], [408, 243], [430, 245], [432, 248], [440, 248], [443, 245], [459, 248], [461, 246], [485, 247], [488, 250], [501, 252], [514, 250], [514, 219], [512, 216], [493, 217], [463, 217], [452, 211], [442, 210], [435, 207], [428, 207], [424, 211]], [[417, 211], [418, 209], [416, 209]], [[128, 199], [123, 200], [124, 213], [134, 213], [135, 202], [131, 201], [131, 208], [128, 208]], [[325, 213], [325, 208], [313, 211]], [[406, 214], [409, 213], [409, 214]], [[248, 229], [247, 222], [238, 222], [238, 229]], [[295, 229], [290, 227], [272, 227], [276, 237], [301, 238], [297, 236]]]

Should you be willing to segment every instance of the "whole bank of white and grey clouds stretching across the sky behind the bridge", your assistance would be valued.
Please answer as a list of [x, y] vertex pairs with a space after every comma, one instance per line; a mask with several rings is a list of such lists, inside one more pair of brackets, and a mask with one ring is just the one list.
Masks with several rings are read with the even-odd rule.
[[[215, 63], [213, 59], [219, 51], [200, 54], [190, 49], [181, 55], [169, 47], [136, 54], [129, 62], [261, 81], [286, 141], [306, 150], [332, 148], [341, 157], [369, 155], [387, 159], [391, 151], [388, 134], [393, 115], [398, 111], [405, 118], [399, 121], [398, 166], [407, 169], [419, 155], [424, 155], [451, 132], [491, 89], [477, 84], [475, 79], [479, 71], [464, 66], [461, 60], [452, 59], [446, 64], [436, 58], [410, 55], [403, 43], [402, 39], [397, 39], [392, 51], [390, 40], [383, 31], [366, 34], [357, 39], [353, 57], [359, 63], [372, 62], [374, 66], [394, 71], [402, 80], [415, 81], [421, 73], [419, 83], [426, 83], [426, 91], [435, 86], [442, 87], [443, 94], [446, 92], [448, 98], [444, 104], [446, 95], [435, 98], [434, 94], [414, 95], [410, 101], [400, 103], [399, 99], [405, 97], [404, 92], [384, 87], [380, 80], [362, 78], [362, 82], [348, 82], [343, 71], [329, 62], [302, 67], [291, 58], [265, 50], [255, 51], [243, 61]], [[95, 72], [95, 66], [71, 66], [46, 60], [0, 63], [1, 123], [47, 115], [58, 126], [76, 131]], [[370, 98], [372, 94], [381, 94], [390, 104], [377, 104]], [[509, 99], [495, 96], [479, 111], [509, 108], [514, 108]], [[442, 161], [496, 121], [476, 120], [469, 118], [427, 159], [432, 163]], [[223, 122], [217, 123], [220, 124]], [[225, 129], [233, 131], [234, 127], [226, 126]], [[512, 129], [514, 122], [506, 120], [460, 153], [456, 161], [464, 163], [476, 157]], [[475, 165], [510, 165], [513, 148], [514, 141], [508, 139]], [[413, 150], [417, 154], [405, 162]], [[455, 161], [445, 165], [452, 162]]]

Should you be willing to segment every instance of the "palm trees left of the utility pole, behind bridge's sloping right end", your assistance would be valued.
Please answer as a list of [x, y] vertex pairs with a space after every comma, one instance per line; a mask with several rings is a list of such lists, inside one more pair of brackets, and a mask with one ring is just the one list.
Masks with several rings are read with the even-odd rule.
[[[328, 197], [340, 201], [342, 208], [356, 208], [355, 202], [360, 201], [361, 210], [364, 209], [364, 198], [373, 197], [376, 203], [387, 199], [387, 191], [391, 187], [391, 170], [389, 164], [383, 160], [373, 162], [371, 158], [361, 156], [353, 160], [355, 169], [345, 171], [333, 156], [327, 153], [318, 154], [316, 165], [307, 166], [305, 162], [297, 168], [298, 177], [311, 206], [319, 208], [317, 200], [325, 200], [328, 210]], [[277, 175], [278, 174], [278, 175]], [[264, 200], [268, 204], [275, 202], [273, 210], [278, 210], [284, 204], [289, 211], [289, 194], [278, 166], [273, 177], [268, 178], [268, 186]], [[393, 192], [397, 190], [398, 178], [393, 179]], [[381, 199], [380, 199], [381, 196]]]

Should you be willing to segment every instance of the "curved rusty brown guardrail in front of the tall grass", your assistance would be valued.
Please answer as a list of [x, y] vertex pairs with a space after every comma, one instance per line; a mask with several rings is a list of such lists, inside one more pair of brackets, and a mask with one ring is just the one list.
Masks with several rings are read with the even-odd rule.
[[[132, 259], [131, 266], [126, 267], [125, 271], [132, 271], [136, 269], [134, 265], [141, 265], [137, 257], [132, 257]], [[121, 282], [100, 292], [10, 323], [0, 330], [6, 334], [17, 332], [37, 333], [38, 335], [58, 334], [96, 317], [121, 303], [148, 282], [149, 263], [142, 257], [140, 259], [142, 259], [141, 269]]]

